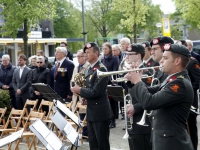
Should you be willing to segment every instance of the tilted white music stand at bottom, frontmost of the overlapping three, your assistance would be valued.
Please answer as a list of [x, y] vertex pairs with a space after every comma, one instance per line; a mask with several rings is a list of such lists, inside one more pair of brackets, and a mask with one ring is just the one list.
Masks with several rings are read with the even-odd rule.
[[68, 146], [63, 145], [62, 141], [53, 131], [49, 130], [41, 119], [37, 119], [29, 128], [48, 150], [68, 149]]

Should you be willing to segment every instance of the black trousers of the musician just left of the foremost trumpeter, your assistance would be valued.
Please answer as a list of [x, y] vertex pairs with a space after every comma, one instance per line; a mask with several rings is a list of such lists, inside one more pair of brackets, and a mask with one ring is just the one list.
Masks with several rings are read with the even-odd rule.
[[151, 134], [129, 134], [128, 143], [130, 150], [151, 150]]

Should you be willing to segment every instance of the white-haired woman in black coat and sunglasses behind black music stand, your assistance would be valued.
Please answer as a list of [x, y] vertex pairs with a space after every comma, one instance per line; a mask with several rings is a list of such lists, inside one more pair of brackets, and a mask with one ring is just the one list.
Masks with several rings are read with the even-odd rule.
[[[33, 70], [32, 83], [44, 83], [50, 86], [51, 74], [50, 74], [49, 68], [47, 68], [45, 65], [45, 58], [43, 56], [37, 57], [37, 66], [38, 67]], [[38, 109], [42, 99], [45, 99], [45, 98], [33, 86], [32, 86], [32, 92], [33, 92], [33, 99], [34, 100], [38, 99], [38, 104], [36, 106], [36, 108]], [[43, 111], [46, 112], [46, 114], [48, 114], [49, 112], [48, 106], [42, 106], [42, 109]]]

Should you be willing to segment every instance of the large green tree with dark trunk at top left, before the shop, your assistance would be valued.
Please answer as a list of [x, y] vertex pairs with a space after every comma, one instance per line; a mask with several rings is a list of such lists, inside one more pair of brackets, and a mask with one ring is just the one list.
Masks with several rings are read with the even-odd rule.
[[1, 0], [5, 24], [2, 35], [16, 38], [18, 29], [24, 26], [24, 53], [28, 56], [28, 31], [31, 24], [55, 16], [54, 0]]

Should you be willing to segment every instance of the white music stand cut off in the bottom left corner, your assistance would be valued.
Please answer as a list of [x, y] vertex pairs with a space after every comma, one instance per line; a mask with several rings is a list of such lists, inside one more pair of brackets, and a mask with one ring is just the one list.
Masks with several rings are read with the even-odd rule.
[[17, 132], [12, 133], [11, 135], [8, 135], [8, 136], [0, 139], [0, 148], [20, 139], [23, 134], [23, 131], [24, 131], [24, 129], [21, 129]]

